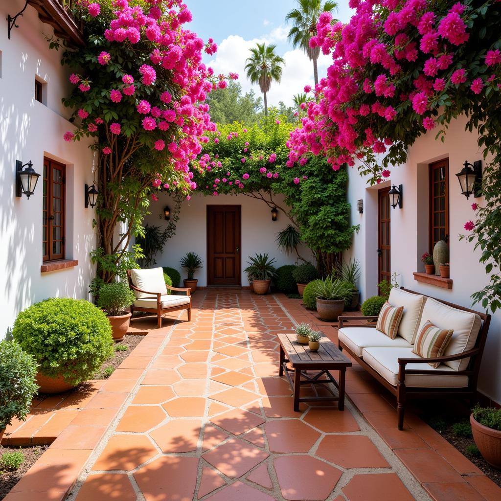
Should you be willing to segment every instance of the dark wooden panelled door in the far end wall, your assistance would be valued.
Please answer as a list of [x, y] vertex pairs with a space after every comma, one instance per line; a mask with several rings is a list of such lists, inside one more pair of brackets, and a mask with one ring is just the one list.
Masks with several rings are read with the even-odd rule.
[[207, 205], [207, 285], [241, 285], [240, 205]]

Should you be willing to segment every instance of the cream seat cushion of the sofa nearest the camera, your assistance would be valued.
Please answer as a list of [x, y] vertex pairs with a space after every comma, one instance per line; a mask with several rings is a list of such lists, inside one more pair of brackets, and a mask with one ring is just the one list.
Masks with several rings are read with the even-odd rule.
[[[412, 353], [412, 348], [364, 348], [362, 351], [364, 362], [369, 364], [375, 371], [393, 386], [398, 382], [399, 358], [420, 358]], [[464, 388], [468, 386], [467, 376], [453, 375], [455, 371], [444, 364], [438, 366], [438, 370], [450, 371], [451, 375], [442, 376], [434, 374], [435, 370], [428, 364], [407, 364], [406, 369], [418, 369], [429, 372], [429, 376], [421, 374], [407, 374], [405, 386], [423, 388]]]

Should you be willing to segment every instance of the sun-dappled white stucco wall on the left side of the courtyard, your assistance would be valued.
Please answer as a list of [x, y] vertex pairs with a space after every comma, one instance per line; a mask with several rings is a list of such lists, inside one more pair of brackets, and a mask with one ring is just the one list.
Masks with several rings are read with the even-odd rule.
[[[84, 208], [84, 184], [92, 184], [93, 154], [89, 140], [67, 143], [72, 129], [61, 98], [68, 94], [69, 72], [61, 66], [61, 49], [49, 50], [44, 39], [52, 28], [40, 22], [31, 6], [18, 18], [19, 29], [7, 38], [8, 14], [25, 2], [0, 3], [0, 339], [18, 312], [43, 299], [63, 296], [88, 298], [93, 268], [89, 252], [95, 246], [94, 210]], [[47, 82], [44, 103], [35, 100], [35, 76]], [[42, 274], [42, 199], [39, 178], [35, 194], [15, 196], [15, 164], [31, 160], [43, 173], [44, 156], [66, 164], [66, 258], [75, 268]]]

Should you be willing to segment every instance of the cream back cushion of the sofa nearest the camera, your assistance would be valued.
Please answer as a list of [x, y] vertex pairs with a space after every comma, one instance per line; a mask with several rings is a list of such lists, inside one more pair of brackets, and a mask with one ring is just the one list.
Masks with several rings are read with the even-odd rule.
[[[428, 320], [441, 329], [452, 329], [454, 331], [447, 348], [443, 352], [444, 357], [471, 350], [475, 345], [482, 323], [480, 317], [475, 313], [457, 310], [431, 298], [428, 298], [424, 305], [419, 330]], [[468, 362], [469, 358], [465, 358], [446, 362], [445, 365], [455, 371], [463, 371], [468, 366]]]

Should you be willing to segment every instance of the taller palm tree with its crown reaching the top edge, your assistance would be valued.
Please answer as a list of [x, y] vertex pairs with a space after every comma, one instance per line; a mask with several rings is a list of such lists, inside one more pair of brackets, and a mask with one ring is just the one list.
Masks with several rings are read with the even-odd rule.
[[315, 85], [318, 84], [317, 59], [320, 56], [320, 47], [310, 47], [310, 39], [317, 35], [318, 18], [323, 12], [337, 10], [337, 2], [327, 0], [322, 5], [322, 0], [298, 0], [299, 8], [293, 9], [285, 18], [286, 22], [292, 21], [294, 27], [290, 29], [288, 39], [294, 47], [299, 47], [313, 61], [313, 75]]

